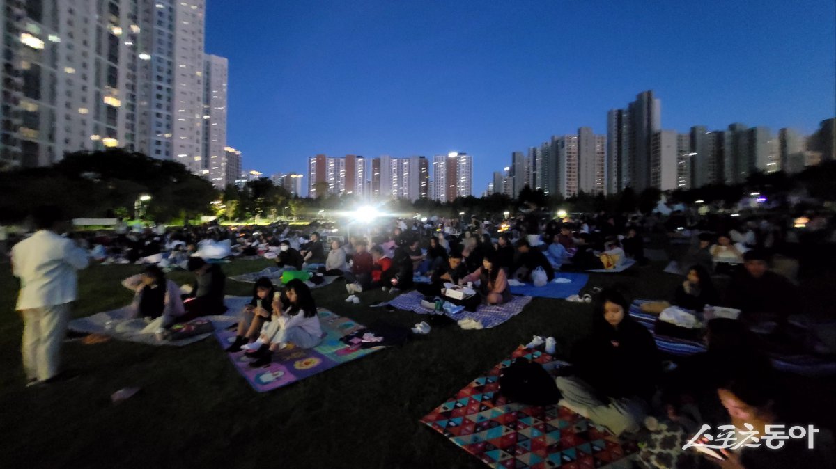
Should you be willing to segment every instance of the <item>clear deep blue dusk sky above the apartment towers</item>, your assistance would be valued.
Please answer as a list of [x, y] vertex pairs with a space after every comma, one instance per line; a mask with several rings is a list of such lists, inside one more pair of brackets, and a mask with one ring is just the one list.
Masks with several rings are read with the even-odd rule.
[[812, 133], [836, 113], [836, 3], [207, 0], [245, 169], [314, 154], [473, 155], [473, 192], [653, 89], [662, 128]]

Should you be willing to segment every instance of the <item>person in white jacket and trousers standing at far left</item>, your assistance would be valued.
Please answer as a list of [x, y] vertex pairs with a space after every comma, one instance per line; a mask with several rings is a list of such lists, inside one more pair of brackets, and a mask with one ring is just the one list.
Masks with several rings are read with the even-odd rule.
[[21, 285], [16, 309], [23, 315], [27, 386], [58, 377], [69, 305], [78, 296], [76, 270], [89, 263], [86, 250], [59, 235], [65, 226], [61, 209], [38, 207], [33, 219], [35, 234], [12, 249], [12, 273]]

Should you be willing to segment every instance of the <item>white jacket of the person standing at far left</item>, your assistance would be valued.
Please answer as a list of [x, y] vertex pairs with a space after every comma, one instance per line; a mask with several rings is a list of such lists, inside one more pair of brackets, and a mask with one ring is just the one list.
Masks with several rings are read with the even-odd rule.
[[12, 248], [12, 274], [20, 279], [18, 310], [64, 305], [78, 297], [76, 270], [89, 264], [87, 251], [48, 229]]

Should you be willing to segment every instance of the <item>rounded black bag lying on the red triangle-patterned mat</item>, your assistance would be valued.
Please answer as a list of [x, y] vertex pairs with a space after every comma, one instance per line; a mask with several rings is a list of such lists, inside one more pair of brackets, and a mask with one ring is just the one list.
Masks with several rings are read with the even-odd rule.
[[499, 392], [511, 401], [531, 406], [548, 406], [560, 401], [554, 378], [538, 363], [517, 358], [499, 375]]

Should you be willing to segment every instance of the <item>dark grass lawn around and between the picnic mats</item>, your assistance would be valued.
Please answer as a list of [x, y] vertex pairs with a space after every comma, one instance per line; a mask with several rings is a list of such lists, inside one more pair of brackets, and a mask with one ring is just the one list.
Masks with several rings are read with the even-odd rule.
[[[227, 275], [237, 275], [267, 265], [250, 260], [223, 267]], [[593, 275], [584, 291], [618, 283], [635, 297], [667, 296], [681, 280], [662, 273], [662, 267]], [[128, 303], [130, 291], [120, 280], [139, 270], [133, 265], [84, 270], [74, 317]], [[171, 277], [188, 280], [185, 273]], [[808, 296], [823, 298], [813, 301], [813, 308], [826, 309], [833, 297], [828, 280], [811, 285]], [[0, 265], [0, 467], [482, 467], [418, 419], [532, 335], [554, 335], [560, 355], [591, 325], [588, 305], [535, 298], [522, 314], [492, 330], [436, 328], [400, 348], [265, 394], [252, 391], [214, 338], [181, 348], [73, 341], [64, 346], [64, 361], [81, 373], [79, 379], [25, 388], [22, 321], [13, 310], [17, 288], [8, 264]], [[227, 293], [247, 295], [250, 289], [229, 281]], [[421, 320], [413, 313], [369, 308], [386, 298], [383, 292], [364, 293], [360, 305], [344, 303], [342, 280], [314, 291], [320, 306], [362, 324], [385, 320], [411, 326]], [[816, 416], [833, 421], [827, 394], [832, 380], [805, 382], [798, 386]], [[110, 394], [125, 386], [141, 391], [112, 405]]]

